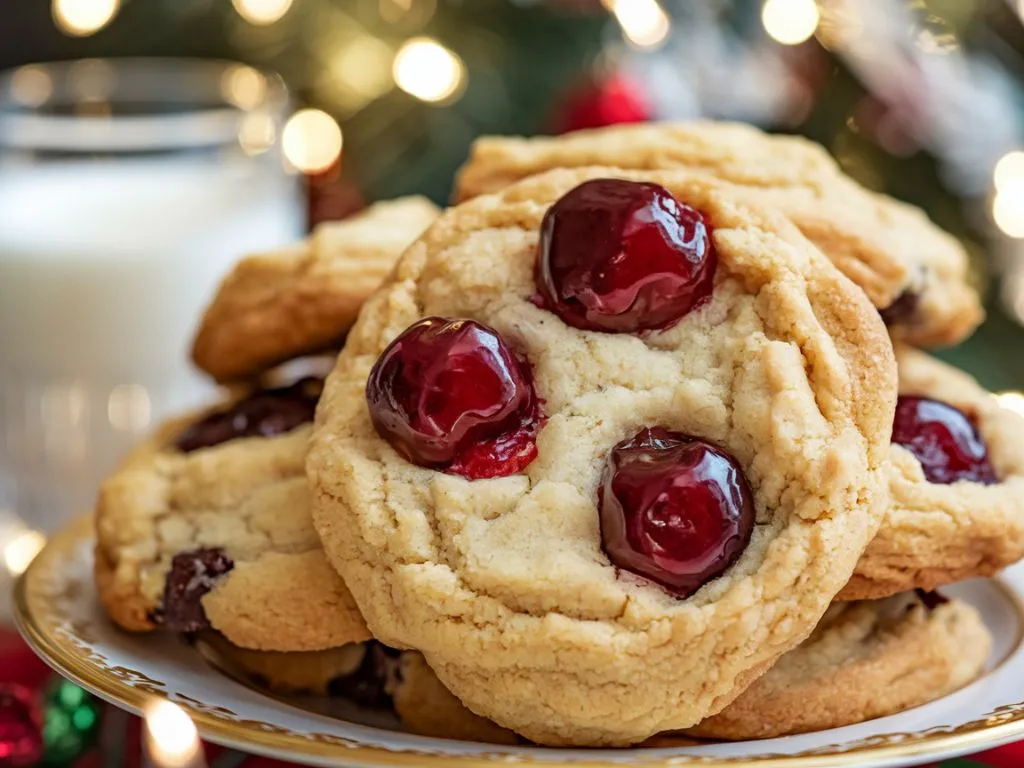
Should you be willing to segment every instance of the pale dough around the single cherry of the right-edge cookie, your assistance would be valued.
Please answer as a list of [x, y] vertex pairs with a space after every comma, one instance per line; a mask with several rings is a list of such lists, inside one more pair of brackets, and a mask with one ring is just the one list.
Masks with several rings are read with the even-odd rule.
[[987, 577], [1024, 557], [1024, 420], [971, 376], [896, 347], [901, 394], [947, 402], [972, 417], [997, 482], [930, 482], [921, 463], [891, 446], [892, 507], [840, 599], [884, 597]]

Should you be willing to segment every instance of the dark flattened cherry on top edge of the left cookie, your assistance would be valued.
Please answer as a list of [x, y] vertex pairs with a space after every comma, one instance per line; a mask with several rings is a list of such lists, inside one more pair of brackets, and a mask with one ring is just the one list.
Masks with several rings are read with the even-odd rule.
[[193, 424], [178, 437], [179, 451], [212, 447], [237, 437], [271, 437], [313, 420], [324, 382], [301, 379], [291, 386], [258, 389], [225, 411]]

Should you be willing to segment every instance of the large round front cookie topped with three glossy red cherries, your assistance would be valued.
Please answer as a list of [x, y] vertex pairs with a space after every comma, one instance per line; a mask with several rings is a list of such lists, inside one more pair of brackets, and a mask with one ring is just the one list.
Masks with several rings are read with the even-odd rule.
[[374, 636], [472, 712], [635, 743], [811, 632], [881, 518], [895, 396], [878, 312], [783, 217], [554, 171], [442, 214], [367, 302], [313, 520]]

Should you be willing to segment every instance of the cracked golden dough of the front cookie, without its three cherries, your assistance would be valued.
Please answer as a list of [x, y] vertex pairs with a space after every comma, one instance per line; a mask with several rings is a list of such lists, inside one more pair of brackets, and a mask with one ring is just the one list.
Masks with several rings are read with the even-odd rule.
[[[580, 331], [530, 301], [545, 212], [609, 175], [714, 231], [714, 293], [669, 330]], [[370, 370], [427, 315], [484, 323], [531, 366], [547, 422], [520, 473], [467, 481], [375, 432]], [[368, 301], [317, 410], [313, 519], [374, 635], [471, 711], [542, 743], [635, 743], [721, 710], [811, 632], [881, 517], [895, 394], [878, 312], [784, 217], [693, 174], [554, 171], [443, 214]], [[750, 545], [687, 599], [602, 550], [601, 467], [645, 425], [721, 445], [754, 495]]]

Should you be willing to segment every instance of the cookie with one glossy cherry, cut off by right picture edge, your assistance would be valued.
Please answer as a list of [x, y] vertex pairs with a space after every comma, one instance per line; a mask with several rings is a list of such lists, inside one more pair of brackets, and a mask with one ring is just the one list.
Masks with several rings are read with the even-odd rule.
[[952, 366], [906, 346], [896, 359], [892, 508], [842, 599], [932, 590], [1024, 557], [1024, 420]]

